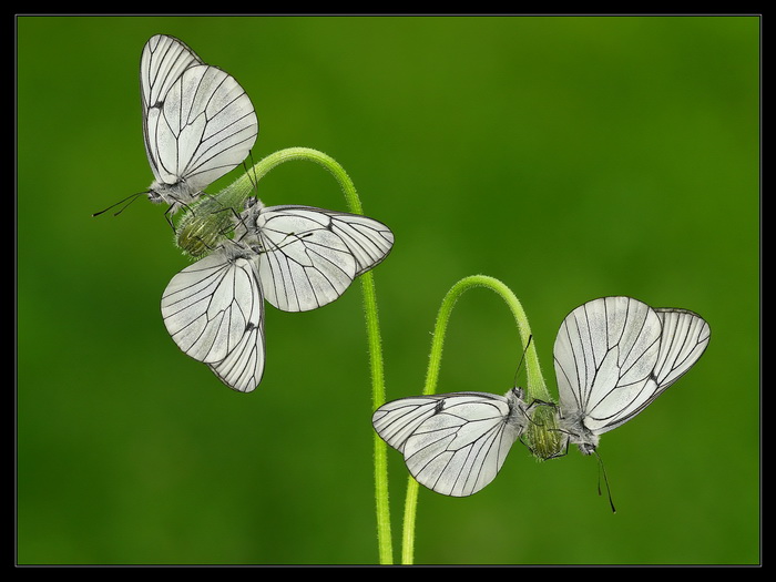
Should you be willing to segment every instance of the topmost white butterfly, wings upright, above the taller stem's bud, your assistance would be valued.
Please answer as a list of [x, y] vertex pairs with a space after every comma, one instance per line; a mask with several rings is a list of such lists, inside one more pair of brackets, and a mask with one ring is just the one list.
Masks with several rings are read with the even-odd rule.
[[167, 213], [174, 213], [245, 160], [258, 121], [234, 78], [165, 34], [143, 48], [140, 88], [145, 152], [155, 177], [149, 198], [170, 204]]

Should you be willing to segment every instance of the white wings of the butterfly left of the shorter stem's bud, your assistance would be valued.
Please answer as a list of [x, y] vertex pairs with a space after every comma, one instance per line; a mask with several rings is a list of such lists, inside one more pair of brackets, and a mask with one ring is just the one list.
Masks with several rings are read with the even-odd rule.
[[453, 392], [382, 405], [372, 415], [372, 426], [404, 455], [420, 484], [467, 497], [496, 478], [523, 430], [524, 416], [514, 398]]

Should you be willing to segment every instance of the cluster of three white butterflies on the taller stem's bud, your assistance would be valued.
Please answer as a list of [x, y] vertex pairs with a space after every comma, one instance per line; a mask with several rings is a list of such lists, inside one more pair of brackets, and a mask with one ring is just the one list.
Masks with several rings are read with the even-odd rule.
[[[238, 166], [258, 134], [253, 104], [229, 74], [182, 41], [157, 34], [140, 63], [149, 198], [167, 213]], [[171, 223], [172, 224], [172, 223]], [[231, 388], [251, 391], [264, 371], [264, 299], [306, 312], [339, 297], [394, 244], [382, 223], [309, 206], [246, 205], [210, 255], [175, 275], [162, 296], [177, 346]]]

